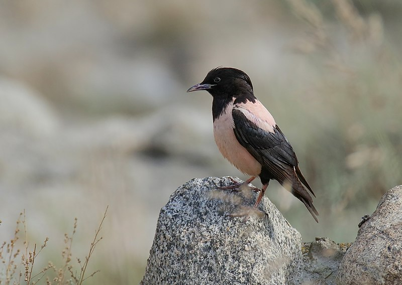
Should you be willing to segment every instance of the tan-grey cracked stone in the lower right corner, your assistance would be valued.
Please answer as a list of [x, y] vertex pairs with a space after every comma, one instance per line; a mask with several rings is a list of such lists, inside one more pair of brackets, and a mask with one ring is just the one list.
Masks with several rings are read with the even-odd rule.
[[402, 284], [402, 185], [381, 198], [338, 270], [338, 284]]

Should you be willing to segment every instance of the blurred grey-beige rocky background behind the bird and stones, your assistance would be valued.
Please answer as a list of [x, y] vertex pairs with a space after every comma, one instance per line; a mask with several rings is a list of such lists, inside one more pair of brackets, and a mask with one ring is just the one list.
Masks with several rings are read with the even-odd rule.
[[77, 217], [84, 259], [109, 205], [87, 284], [137, 284], [177, 187], [247, 178], [215, 146], [212, 97], [186, 93], [217, 66], [251, 77], [320, 223], [276, 182], [266, 196], [304, 241], [353, 241], [402, 184], [401, 12], [396, 0], [0, 2], [0, 241], [25, 209], [30, 246], [49, 237], [40, 271], [62, 262]]

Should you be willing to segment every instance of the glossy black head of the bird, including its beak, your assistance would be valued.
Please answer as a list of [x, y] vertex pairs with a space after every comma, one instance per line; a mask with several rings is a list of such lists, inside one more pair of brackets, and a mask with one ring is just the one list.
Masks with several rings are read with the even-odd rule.
[[245, 92], [253, 93], [250, 77], [236, 68], [217, 67], [204, 78], [203, 82], [190, 87], [187, 92], [207, 90], [212, 96], [237, 97]]

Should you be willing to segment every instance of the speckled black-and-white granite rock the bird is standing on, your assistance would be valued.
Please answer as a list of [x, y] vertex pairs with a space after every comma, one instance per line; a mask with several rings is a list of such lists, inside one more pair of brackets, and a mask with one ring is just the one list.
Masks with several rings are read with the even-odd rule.
[[[236, 179], [241, 182], [240, 180]], [[287, 284], [300, 234], [256, 193], [220, 190], [230, 178], [193, 179], [161, 209], [140, 284]], [[250, 212], [247, 220], [237, 215]]]

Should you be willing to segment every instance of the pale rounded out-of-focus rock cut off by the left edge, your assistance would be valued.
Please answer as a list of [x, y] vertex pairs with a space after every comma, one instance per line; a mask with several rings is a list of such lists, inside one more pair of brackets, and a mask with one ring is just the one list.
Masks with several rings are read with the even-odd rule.
[[40, 137], [57, 129], [51, 106], [25, 84], [0, 78], [0, 127]]

